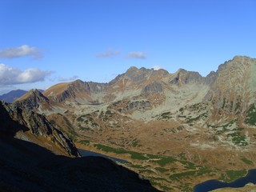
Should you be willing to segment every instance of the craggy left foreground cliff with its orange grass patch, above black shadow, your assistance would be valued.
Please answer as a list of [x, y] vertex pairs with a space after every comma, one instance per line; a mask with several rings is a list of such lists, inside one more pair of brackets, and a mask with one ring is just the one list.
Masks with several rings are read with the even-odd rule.
[[4, 102], [0, 103], [0, 111], [3, 133], [13, 134], [15, 138], [37, 143], [57, 154], [74, 157], [80, 155], [74, 143], [51, 125], [42, 114]]

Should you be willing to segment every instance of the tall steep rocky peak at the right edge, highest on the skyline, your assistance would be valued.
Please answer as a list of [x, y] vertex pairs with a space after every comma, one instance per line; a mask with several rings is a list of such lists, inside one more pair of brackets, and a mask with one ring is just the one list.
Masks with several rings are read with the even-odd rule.
[[255, 102], [255, 72], [256, 59], [253, 58], [236, 56], [224, 62], [216, 73], [211, 74], [206, 101], [227, 113], [243, 113]]

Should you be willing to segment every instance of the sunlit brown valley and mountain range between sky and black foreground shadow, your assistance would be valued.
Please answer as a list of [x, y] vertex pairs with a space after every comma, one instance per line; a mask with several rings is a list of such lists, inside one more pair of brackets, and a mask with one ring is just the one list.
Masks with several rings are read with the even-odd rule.
[[[255, 85], [256, 59], [236, 56], [206, 77], [130, 67], [108, 83], [60, 83], [4, 105], [44, 119], [46, 134], [31, 131], [49, 150], [73, 156], [77, 151], [67, 146], [93, 150], [126, 160], [122, 166], [158, 190], [193, 191], [206, 180], [230, 182], [255, 168]], [[55, 132], [64, 134], [47, 134]], [[58, 145], [46, 144], [44, 135]]]

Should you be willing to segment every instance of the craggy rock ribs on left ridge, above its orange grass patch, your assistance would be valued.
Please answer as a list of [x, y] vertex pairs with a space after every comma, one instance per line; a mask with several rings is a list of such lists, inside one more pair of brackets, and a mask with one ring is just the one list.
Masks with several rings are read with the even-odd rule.
[[21, 131], [19, 137], [22, 138], [23, 132], [30, 131], [30, 134], [36, 137], [40, 135], [46, 139], [49, 138], [49, 142], [53, 142], [54, 145], [65, 150], [71, 156], [78, 157], [80, 155], [74, 143], [60, 130], [52, 126], [42, 114], [2, 102], [0, 103], [0, 110], [1, 129], [5, 130], [6, 133], [14, 134]]

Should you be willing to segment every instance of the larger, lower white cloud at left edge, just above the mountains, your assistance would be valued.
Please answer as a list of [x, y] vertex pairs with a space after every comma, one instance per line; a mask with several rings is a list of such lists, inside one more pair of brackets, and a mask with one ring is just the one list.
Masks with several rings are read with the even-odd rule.
[[19, 70], [0, 64], [0, 85], [16, 85], [27, 82], [42, 82], [52, 72], [38, 69]]

